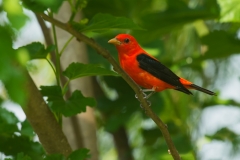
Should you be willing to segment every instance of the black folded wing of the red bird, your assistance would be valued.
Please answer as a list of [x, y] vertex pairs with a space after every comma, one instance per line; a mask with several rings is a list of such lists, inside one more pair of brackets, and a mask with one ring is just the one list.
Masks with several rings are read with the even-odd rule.
[[137, 56], [137, 61], [139, 63], [139, 67], [154, 77], [175, 86], [176, 90], [184, 92], [186, 94], [192, 94], [187, 88], [185, 88], [182, 83], [179, 81], [180, 77], [178, 77], [175, 73], [173, 73], [170, 69], [164, 66], [161, 62], [149, 57], [146, 54], [139, 54]]

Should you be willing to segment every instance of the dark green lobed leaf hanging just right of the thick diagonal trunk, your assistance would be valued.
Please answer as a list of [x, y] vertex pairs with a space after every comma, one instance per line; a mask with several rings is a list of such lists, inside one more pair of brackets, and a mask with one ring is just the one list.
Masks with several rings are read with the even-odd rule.
[[87, 106], [96, 106], [94, 98], [84, 97], [78, 90], [74, 91], [72, 96], [64, 101], [63, 99], [49, 102], [49, 106], [56, 113], [61, 113], [65, 117], [70, 117], [81, 112], [86, 112]]

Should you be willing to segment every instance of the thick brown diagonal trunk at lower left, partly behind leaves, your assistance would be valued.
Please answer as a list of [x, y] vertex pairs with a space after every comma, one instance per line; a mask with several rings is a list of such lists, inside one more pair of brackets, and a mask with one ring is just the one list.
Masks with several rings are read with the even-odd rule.
[[72, 149], [57, 123], [54, 115], [49, 110], [41, 93], [27, 74], [28, 104], [24, 109], [26, 117], [47, 154], [60, 153], [67, 157]]

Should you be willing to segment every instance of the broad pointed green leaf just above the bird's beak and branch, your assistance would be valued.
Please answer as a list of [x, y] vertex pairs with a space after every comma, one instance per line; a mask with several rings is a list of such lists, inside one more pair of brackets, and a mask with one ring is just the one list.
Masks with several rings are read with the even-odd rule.
[[143, 30], [129, 18], [114, 17], [110, 14], [98, 13], [89, 21], [88, 25], [81, 28], [81, 31], [99, 32], [109, 29]]

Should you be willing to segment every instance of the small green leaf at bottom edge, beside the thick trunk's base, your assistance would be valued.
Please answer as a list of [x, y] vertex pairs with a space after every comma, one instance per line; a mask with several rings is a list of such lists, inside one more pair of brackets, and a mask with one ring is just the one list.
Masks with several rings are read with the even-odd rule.
[[90, 158], [91, 155], [89, 154], [88, 149], [81, 148], [76, 151], [73, 151], [69, 156], [67, 160], [85, 160], [87, 158]]

